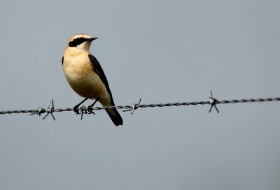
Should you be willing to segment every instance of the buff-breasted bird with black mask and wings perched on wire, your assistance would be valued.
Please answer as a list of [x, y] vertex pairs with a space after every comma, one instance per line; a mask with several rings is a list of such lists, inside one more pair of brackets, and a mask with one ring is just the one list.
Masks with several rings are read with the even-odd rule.
[[[74, 92], [85, 98], [74, 106], [73, 110], [76, 114], [78, 114], [80, 104], [87, 99], [95, 99], [87, 110], [90, 110], [97, 101], [103, 106], [115, 105], [102, 66], [90, 53], [90, 45], [96, 39], [97, 37], [87, 34], [73, 35], [69, 39], [62, 57], [62, 67], [67, 82]], [[123, 119], [116, 108], [108, 108], [106, 112], [116, 126], [123, 125]]]

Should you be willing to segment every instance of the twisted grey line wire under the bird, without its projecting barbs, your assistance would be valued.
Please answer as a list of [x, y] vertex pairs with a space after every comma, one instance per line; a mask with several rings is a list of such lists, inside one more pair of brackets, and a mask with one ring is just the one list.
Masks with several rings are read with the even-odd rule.
[[[214, 98], [212, 98], [214, 99]], [[155, 108], [155, 107], [170, 107], [170, 106], [181, 106], [181, 105], [205, 105], [205, 104], [210, 104], [210, 105], [217, 105], [220, 103], [256, 103], [256, 102], [269, 102], [269, 101], [280, 101], [280, 97], [275, 97], [275, 98], [250, 98], [250, 99], [233, 99], [233, 100], [223, 100], [223, 101], [218, 101], [214, 99], [214, 103], [211, 103], [211, 101], [194, 101], [194, 102], [182, 102], [182, 103], [156, 103], [156, 104], [134, 104], [134, 109], [137, 108]], [[133, 104], [132, 104], [133, 105]], [[132, 105], [114, 105], [114, 106], [103, 106], [103, 107], [94, 107], [92, 110], [105, 110], [105, 109], [132, 109]], [[69, 112], [73, 111], [73, 108], [38, 108], [36, 110], [8, 110], [8, 111], [0, 111], [0, 115], [5, 115], [5, 114], [14, 114], [14, 113], [30, 113], [31, 115], [41, 115], [42, 113], [45, 112]], [[85, 112], [86, 113], [86, 112]]]

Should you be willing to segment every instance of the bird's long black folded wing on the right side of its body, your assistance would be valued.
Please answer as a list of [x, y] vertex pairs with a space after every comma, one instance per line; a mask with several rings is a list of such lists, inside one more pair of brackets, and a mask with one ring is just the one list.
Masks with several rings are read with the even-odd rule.
[[88, 54], [88, 58], [90, 59], [90, 64], [92, 65], [93, 71], [95, 73], [97, 73], [97, 75], [99, 75], [99, 78], [102, 80], [102, 82], [104, 83], [107, 92], [110, 94], [110, 101], [112, 105], [115, 105], [113, 103], [113, 96], [109, 87], [109, 83], [108, 80], [106, 78], [106, 75], [101, 67], [101, 65], [99, 64], [99, 62], [97, 61], [97, 59], [92, 55], [92, 54]]

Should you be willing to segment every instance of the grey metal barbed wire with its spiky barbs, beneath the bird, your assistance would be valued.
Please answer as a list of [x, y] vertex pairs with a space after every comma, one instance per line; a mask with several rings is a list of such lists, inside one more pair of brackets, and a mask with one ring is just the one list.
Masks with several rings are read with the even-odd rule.
[[[193, 102], [181, 102], [181, 103], [152, 103], [152, 104], [140, 104], [141, 98], [139, 99], [138, 103], [132, 103], [131, 105], [113, 105], [113, 106], [103, 106], [103, 107], [94, 107], [94, 108], [87, 108], [85, 106], [81, 106], [78, 108], [78, 112], [76, 114], [80, 114], [80, 119], [83, 119], [83, 114], [94, 114], [94, 110], [106, 110], [106, 109], [125, 109], [123, 112], [131, 111], [131, 114], [134, 113], [134, 110], [138, 108], [155, 108], [155, 107], [170, 107], [170, 106], [181, 106], [181, 105], [211, 105], [209, 112], [211, 112], [212, 108], [214, 107], [217, 112], [219, 112], [218, 108], [216, 107], [217, 104], [225, 104], [225, 103], [256, 103], [256, 102], [269, 102], [269, 101], [280, 101], [280, 97], [275, 98], [249, 98], [249, 99], [233, 99], [233, 100], [223, 100], [218, 101], [216, 98], [213, 97], [212, 92], [210, 92], [211, 96], [209, 96], [209, 101], [193, 101]], [[42, 119], [45, 119], [50, 114], [52, 119], [55, 120], [55, 116], [52, 114], [53, 112], [69, 112], [74, 111], [73, 108], [57, 108], [55, 109], [53, 100], [50, 101], [48, 104], [48, 108], [38, 108], [36, 110], [9, 110], [9, 111], [0, 111], [0, 115], [6, 114], [18, 114], [18, 113], [29, 113], [30, 115], [39, 115], [43, 113], [47, 113]]]

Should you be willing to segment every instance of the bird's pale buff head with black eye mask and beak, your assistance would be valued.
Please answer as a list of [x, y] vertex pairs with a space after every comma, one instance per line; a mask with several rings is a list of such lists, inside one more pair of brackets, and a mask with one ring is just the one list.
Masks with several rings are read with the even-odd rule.
[[69, 39], [67, 48], [71, 47], [76, 48], [76, 50], [88, 52], [90, 50], [90, 44], [96, 39], [96, 37], [92, 38], [87, 34], [75, 34]]

